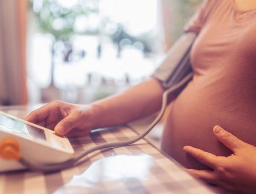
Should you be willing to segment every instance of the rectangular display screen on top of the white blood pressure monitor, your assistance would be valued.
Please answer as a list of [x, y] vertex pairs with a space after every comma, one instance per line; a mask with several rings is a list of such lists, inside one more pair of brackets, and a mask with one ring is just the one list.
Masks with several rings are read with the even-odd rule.
[[35, 137], [46, 140], [45, 132], [43, 129], [26, 125], [25, 123], [2, 114], [0, 114], [0, 129], [29, 139]]

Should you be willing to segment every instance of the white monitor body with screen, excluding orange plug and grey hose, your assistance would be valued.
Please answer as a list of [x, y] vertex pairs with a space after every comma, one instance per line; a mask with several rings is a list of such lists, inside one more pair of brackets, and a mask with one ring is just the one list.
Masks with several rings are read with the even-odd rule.
[[0, 171], [26, 168], [15, 160], [1, 157], [6, 142], [14, 142], [21, 157], [34, 164], [61, 163], [74, 154], [67, 137], [0, 111]]

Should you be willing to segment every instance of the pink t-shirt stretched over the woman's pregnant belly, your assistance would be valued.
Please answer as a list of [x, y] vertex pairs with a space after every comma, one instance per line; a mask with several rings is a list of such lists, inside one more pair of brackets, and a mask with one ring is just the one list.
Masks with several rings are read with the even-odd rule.
[[215, 125], [256, 145], [256, 9], [206, 0], [185, 31], [198, 33], [191, 51], [194, 77], [173, 103], [162, 149], [185, 167], [202, 169], [207, 167], [182, 148], [231, 154], [213, 135]]

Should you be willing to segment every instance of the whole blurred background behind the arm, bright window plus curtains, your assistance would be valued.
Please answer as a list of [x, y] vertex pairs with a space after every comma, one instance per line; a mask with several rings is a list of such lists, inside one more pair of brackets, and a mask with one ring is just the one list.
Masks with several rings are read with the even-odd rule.
[[145, 80], [200, 3], [0, 0], [0, 104], [85, 104]]

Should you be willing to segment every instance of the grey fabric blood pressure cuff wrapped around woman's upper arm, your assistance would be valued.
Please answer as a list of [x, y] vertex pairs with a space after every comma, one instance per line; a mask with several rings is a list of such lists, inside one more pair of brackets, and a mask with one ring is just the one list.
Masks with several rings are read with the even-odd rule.
[[[163, 63], [152, 74], [152, 77], [159, 80], [164, 89], [179, 83], [192, 72], [189, 54], [196, 36], [197, 34], [194, 32], [184, 33], [168, 51]], [[183, 88], [178, 89], [175, 95], [178, 95]]]

